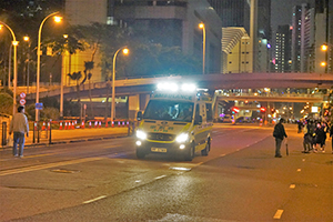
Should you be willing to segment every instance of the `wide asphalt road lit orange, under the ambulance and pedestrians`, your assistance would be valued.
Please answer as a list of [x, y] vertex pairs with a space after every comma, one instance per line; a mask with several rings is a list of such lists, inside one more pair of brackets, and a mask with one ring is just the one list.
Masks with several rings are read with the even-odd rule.
[[209, 157], [138, 160], [133, 138], [0, 151], [1, 221], [333, 221], [331, 141], [304, 154], [286, 125], [215, 124]]

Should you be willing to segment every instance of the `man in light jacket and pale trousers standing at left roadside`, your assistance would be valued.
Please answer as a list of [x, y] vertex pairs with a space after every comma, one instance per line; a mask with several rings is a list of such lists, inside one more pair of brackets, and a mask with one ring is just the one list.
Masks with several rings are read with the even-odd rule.
[[[24, 114], [24, 107], [20, 105], [18, 112], [12, 117], [9, 127], [9, 134], [13, 132], [13, 145], [12, 154], [14, 157], [23, 158], [23, 148], [24, 148], [24, 133], [27, 138], [29, 137], [29, 123], [28, 118]], [[18, 144], [19, 144], [19, 154], [18, 154]]]

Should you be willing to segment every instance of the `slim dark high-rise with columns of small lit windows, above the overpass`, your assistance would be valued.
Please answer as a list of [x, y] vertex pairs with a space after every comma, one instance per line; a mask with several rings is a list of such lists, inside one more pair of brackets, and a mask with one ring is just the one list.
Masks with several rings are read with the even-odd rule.
[[275, 34], [275, 67], [274, 72], [291, 71], [291, 27], [279, 26]]

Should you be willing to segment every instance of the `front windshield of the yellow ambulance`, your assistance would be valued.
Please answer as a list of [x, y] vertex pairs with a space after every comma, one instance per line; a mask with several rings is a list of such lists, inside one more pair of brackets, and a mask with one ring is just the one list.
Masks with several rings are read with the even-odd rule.
[[191, 122], [193, 102], [150, 100], [143, 119]]

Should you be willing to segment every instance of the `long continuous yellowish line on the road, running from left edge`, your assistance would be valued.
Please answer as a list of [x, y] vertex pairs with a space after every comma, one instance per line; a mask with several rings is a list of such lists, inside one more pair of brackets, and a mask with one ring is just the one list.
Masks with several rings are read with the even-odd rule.
[[42, 164], [42, 165], [32, 165], [32, 167], [27, 167], [27, 168], [21, 168], [21, 169], [6, 170], [6, 171], [0, 172], [0, 176], [31, 172], [31, 171], [37, 171], [37, 170], [44, 170], [48, 168], [56, 168], [56, 167], [61, 167], [61, 165], [92, 162], [92, 161], [98, 161], [98, 160], [102, 160], [102, 159], [104, 159], [104, 158], [84, 158], [84, 159], [70, 160], [70, 161], [58, 162], [58, 163], [48, 163], [48, 164]]

